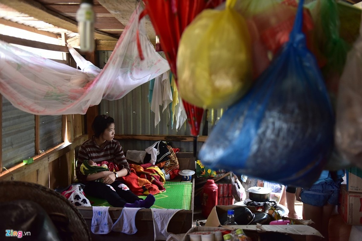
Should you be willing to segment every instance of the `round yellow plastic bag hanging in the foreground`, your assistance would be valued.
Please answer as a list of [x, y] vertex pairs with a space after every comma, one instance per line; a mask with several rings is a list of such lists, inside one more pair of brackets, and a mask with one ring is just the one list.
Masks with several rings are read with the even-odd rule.
[[182, 99], [202, 108], [230, 106], [252, 83], [251, 40], [244, 18], [227, 0], [225, 10], [203, 10], [181, 36], [177, 53]]

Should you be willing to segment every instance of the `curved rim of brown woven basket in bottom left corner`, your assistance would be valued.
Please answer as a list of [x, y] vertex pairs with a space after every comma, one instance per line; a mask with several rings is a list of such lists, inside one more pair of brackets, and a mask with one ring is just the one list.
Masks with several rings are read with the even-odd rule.
[[76, 207], [60, 193], [31, 182], [0, 181], [0, 202], [20, 199], [38, 203], [51, 218], [59, 214], [67, 218], [69, 220], [67, 229], [71, 233], [72, 240], [91, 240], [90, 232], [83, 216]]

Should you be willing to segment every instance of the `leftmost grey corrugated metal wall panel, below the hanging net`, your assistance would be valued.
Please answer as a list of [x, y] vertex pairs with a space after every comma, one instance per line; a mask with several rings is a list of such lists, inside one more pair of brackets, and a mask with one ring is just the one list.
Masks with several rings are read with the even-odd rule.
[[3, 97], [3, 167], [9, 168], [35, 155], [35, 118]]

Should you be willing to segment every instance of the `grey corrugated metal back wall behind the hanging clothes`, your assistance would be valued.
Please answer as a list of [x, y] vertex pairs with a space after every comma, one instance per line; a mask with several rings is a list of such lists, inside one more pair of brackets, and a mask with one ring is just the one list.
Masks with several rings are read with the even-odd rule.
[[[110, 53], [111, 51], [99, 51], [100, 68], [103, 68], [109, 59]], [[149, 83], [144, 83], [119, 100], [102, 100], [99, 106], [100, 114], [106, 114], [115, 119], [116, 134], [190, 135], [187, 121], [180, 130], [175, 129], [176, 124], [172, 128], [168, 114], [166, 111], [162, 113], [162, 106], [160, 106], [161, 121], [155, 127], [155, 113], [151, 112], [150, 104], [148, 103], [148, 86]], [[222, 109], [210, 109], [208, 111], [208, 133], [210, 133], [214, 124], [218, 122], [222, 112]], [[204, 114], [200, 135], [207, 133], [206, 130], [203, 130], [205, 121], [206, 115]], [[125, 150], [144, 150], [153, 143], [153, 141], [127, 141], [127, 143], [122, 142], [121, 145]], [[198, 143], [198, 149], [201, 146], [202, 143]], [[192, 142], [174, 142], [172, 147], [179, 148], [181, 151], [193, 151]]]

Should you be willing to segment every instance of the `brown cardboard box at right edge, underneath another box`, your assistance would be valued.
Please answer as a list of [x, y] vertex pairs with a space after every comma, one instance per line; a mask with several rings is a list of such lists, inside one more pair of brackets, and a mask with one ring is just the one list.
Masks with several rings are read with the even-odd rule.
[[337, 209], [346, 224], [362, 225], [362, 193], [347, 191], [347, 185], [341, 185]]

